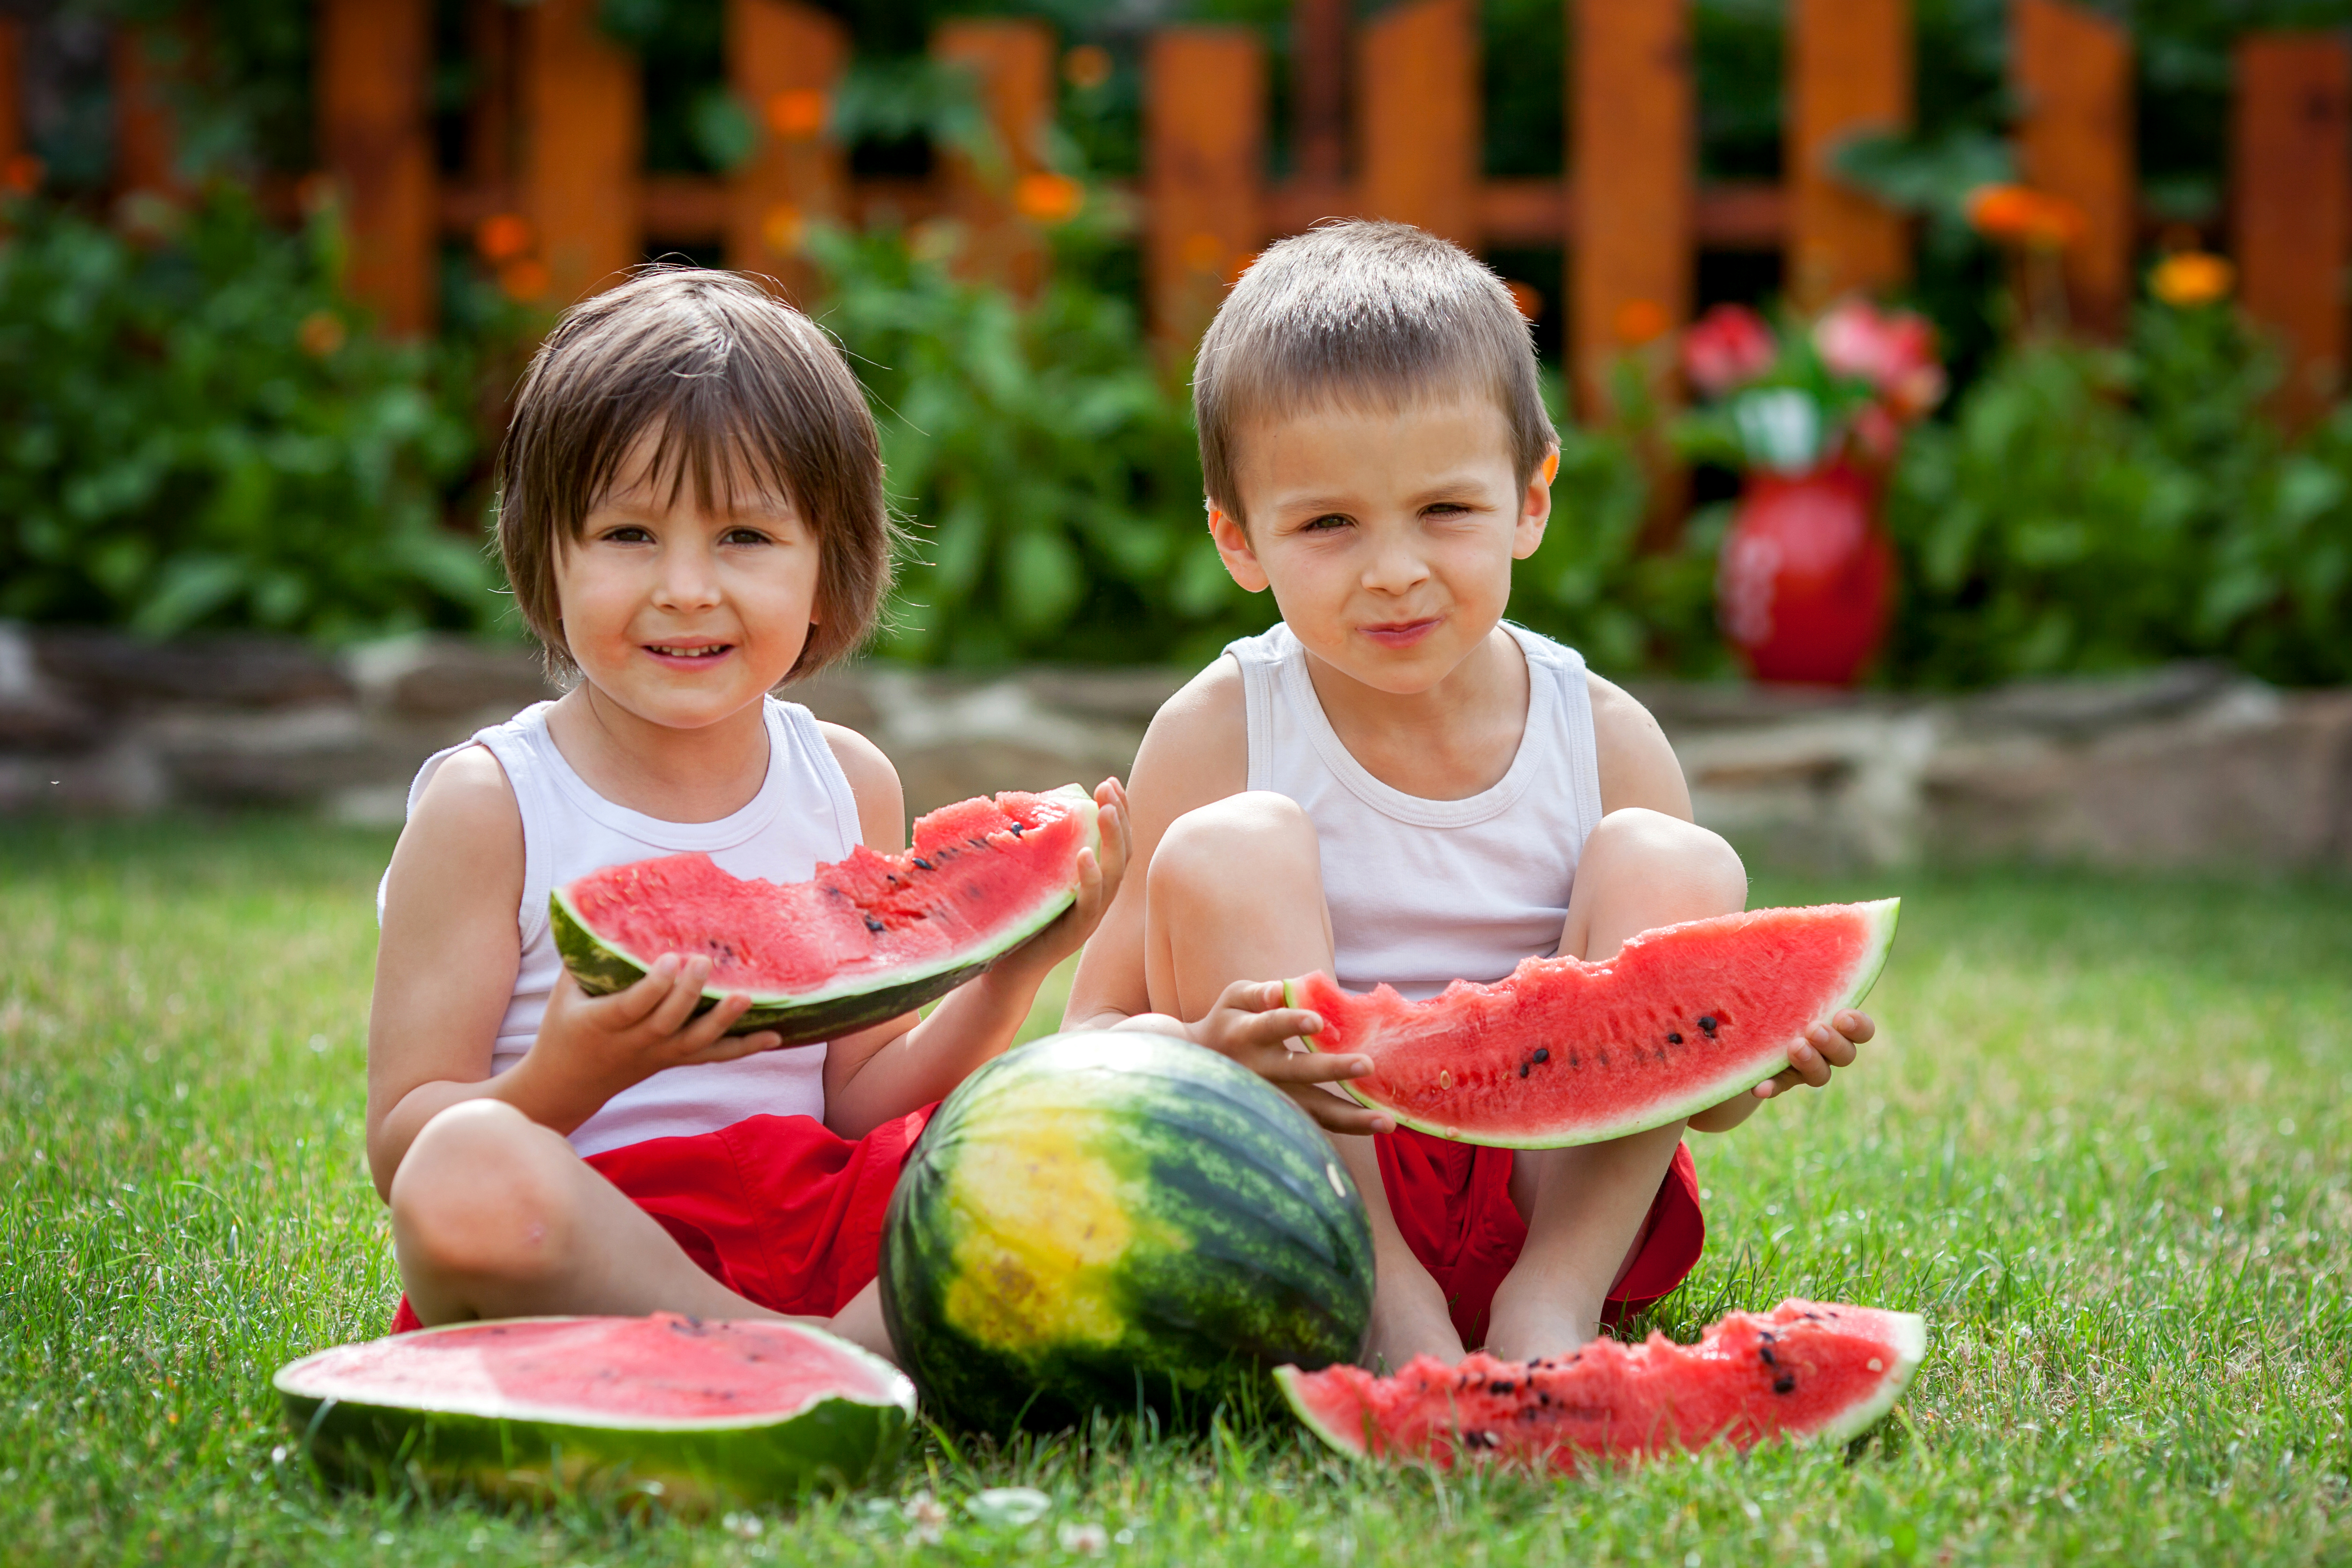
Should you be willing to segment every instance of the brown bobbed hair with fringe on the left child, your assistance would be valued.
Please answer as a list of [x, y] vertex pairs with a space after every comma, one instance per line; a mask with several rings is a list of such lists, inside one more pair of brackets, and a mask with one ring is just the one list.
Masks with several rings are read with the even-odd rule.
[[889, 592], [898, 543], [882, 442], [833, 339], [750, 277], [647, 268], [564, 310], [532, 357], [499, 449], [499, 555], [522, 621], [572, 668], [555, 562], [656, 433], [647, 482], [706, 510], [769, 484], [816, 538], [816, 609], [790, 675], [854, 649]]

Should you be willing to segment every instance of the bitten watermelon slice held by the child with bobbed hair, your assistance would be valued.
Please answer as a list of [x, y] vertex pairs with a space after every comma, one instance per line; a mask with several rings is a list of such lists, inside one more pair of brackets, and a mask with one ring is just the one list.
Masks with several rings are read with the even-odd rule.
[[590, 997], [668, 952], [708, 954], [701, 1009], [750, 994], [729, 1034], [804, 1046], [943, 997], [1037, 936], [1077, 900], [1082, 849], [1101, 851], [1101, 830], [1077, 785], [983, 795], [920, 818], [901, 856], [861, 844], [793, 884], [729, 877], [710, 856], [635, 860], [555, 889], [548, 919]]

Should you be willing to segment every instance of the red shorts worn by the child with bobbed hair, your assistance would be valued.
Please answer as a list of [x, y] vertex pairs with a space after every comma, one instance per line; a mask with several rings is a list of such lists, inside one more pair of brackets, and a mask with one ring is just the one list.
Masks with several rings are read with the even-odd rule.
[[[746, 1117], [590, 1154], [706, 1274], [769, 1312], [833, 1316], [875, 1276], [898, 1166], [931, 1107], [858, 1140], [816, 1117]], [[423, 1328], [400, 1298], [390, 1333]]]

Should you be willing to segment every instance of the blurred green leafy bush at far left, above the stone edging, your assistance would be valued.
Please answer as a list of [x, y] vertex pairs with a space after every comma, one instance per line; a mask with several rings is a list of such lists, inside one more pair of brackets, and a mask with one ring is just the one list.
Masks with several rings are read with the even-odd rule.
[[480, 435], [470, 357], [388, 343], [334, 223], [233, 186], [106, 228], [14, 202], [0, 242], [0, 616], [167, 635], [485, 625], [480, 534], [442, 524]]

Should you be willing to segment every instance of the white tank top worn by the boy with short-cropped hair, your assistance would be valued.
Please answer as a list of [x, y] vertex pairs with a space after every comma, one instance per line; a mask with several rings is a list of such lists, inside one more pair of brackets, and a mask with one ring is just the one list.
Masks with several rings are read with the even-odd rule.
[[1338, 983], [1435, 997], [1559, 950], [1585, 835], [1602, 820], [1585, 661], [1505, 623], [1526, 654], [1510, 771], [1468, 799], [1423, 799], [1364, 771], [1324, 717], [1291, 628], [1225, 646], [1249, 705], [1249, 788], [1289, 795], [1322, 842]]

